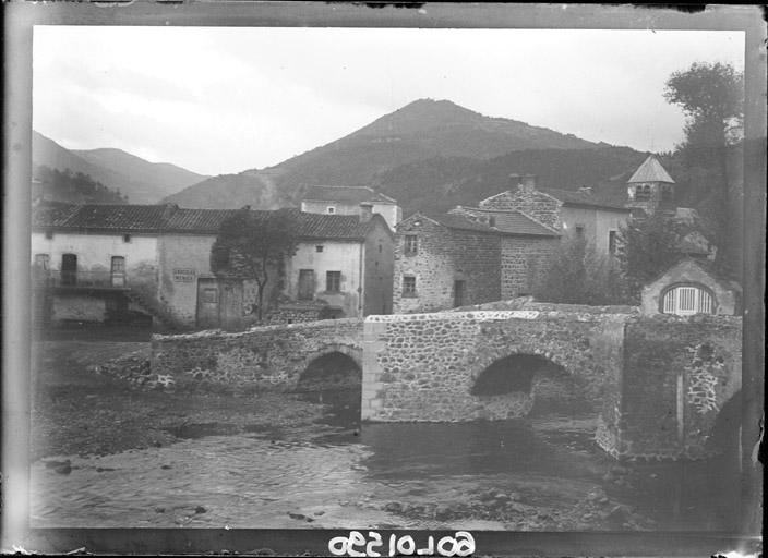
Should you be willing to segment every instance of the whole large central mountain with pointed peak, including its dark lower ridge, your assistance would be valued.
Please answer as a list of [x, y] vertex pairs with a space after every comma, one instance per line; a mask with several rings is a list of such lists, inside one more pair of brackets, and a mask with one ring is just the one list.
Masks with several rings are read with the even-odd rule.
[[641, 155], [626, 147], [420, 99], [277, 166], [217, 177], [166, 199], [184, 207], [266, 208], [260, 204], [298, 205], [310, 185], [364, 184], [392, 195], [406, 211], [437, 209], [507, 187], [511, 172], [536, 172], [548, 185], [573, 189], [624, 172], [636, 159]]

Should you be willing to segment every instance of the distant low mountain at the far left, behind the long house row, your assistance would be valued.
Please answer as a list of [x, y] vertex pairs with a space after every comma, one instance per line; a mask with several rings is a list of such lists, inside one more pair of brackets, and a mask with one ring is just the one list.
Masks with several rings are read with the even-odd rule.
[[120, 149], [70, 150], [33, 131], [34, 166], [89, 175], [109, 190], [120, 191], [132, 204], [154, 204], [163, 197], [207, 179], [167, 162], [149, 162]]

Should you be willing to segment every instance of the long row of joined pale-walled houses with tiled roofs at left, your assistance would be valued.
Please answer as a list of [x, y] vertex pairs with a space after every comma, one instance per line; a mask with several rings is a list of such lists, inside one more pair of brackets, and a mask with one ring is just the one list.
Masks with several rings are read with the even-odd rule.
[[[268, 283], [269, 322], [392, 311], [393, 234], [380, 215], [283, 211], [296, 219], [299, 243]], [[232, 213], [175, 205], [38, 205], [32, 232], [38, 312], [55, 323], [142, 314], [188, 328], [254, 322], [255, 281], [211, 270], [211, 247]]]

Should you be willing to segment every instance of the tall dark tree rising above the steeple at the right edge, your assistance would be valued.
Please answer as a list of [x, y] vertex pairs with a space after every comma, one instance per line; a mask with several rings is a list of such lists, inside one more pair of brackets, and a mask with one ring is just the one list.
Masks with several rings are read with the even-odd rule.
[[[691, 192], [713, 221], [718, 264], [722, 267], [739, 250], [731, 221], [741, 207], [729, 184], [729, 149], [741, 142], [744, 120], [744, 76], [730, 64], [694, 63], [667, 81], [664, 98], [682, 107], [687, 120], [685, 140], [677, 147], [693, 175]], [[699, 170], [697, 170], [699, 169]], [[731, 199], [733, 197], [734, 199]], [[708, 211], [704, 211], [705, 214]]]

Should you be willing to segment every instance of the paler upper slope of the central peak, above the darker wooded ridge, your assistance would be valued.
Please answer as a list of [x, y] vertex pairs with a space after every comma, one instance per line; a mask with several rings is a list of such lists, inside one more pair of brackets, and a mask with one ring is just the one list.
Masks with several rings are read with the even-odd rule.
[[[244, 199], [256, 206], [266, 196], [271, 203], [296, 205], [310, 185], [371, 184], [383, 173], [420, 161], [461, 157], [469, 163], [523, 149], [605, 147], [524, 122], [485, 117], [447, 100], [420, 99], [275, 167], [244, 171], [240, 175], [255, 179], [250, 194], [243, 190], [247, 180], [230, 183], [233, 179], [220, 177], [167, 201], [187, 207], [211, 207], [212, 203], [213, 207], [237, 207]], [[213, 195], [207, 187], [218, 191]]]

